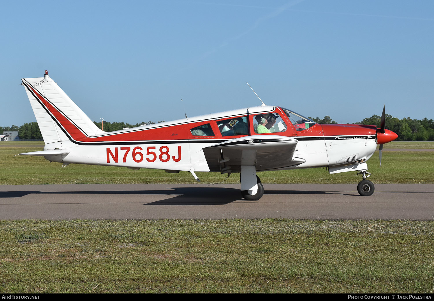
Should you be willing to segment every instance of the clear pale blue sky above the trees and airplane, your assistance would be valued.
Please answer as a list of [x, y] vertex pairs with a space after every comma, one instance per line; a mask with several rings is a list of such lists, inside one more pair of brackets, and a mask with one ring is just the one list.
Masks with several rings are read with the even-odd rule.
[[7, 1], [0, 26], [0, 126], [36, 121], [20, 79], [44, 70], [95, 121], [260, 105], [246, 82], [305, 116], [434, 119], [431, 0]]

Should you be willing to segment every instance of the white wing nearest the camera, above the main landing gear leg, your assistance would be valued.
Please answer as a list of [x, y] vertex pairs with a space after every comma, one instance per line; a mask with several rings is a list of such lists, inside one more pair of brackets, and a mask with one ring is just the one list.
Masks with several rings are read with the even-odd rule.
[[256, 171], [299, 165], [293, 158], [297, 140], [274, 135], [246, 136], [203, 149], [210, 171], [240, 172], [241, 165], [255, 165]]

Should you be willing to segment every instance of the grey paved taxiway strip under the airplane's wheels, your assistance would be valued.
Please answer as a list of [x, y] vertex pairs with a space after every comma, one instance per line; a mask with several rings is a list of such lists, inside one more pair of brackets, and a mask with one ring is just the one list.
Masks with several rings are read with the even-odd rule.
[[2, 185], [0, 219], [434, 218], [434, 184], [264, 184], [259, 201], [239, 184]]

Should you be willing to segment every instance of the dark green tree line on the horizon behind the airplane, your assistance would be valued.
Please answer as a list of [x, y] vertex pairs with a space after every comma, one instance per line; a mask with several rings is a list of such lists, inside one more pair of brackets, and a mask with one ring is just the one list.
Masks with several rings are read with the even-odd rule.
[[[332, 120], [330, 116], [325, 116], [324, 118], [319, 117], [309, 117], [315, 122], [322, 124], [330, 124], [337, 123], [335, 120]], [[402, 141], [427, 141], [434, 140], [434, 120], [424, 119], [411, 119], [410, 117], [398, 119], [397, 117], [393, 117], [389, 114], [385, 115], [386, 120], [386, 129], [390, 129], [392, 132], [398, 134], [397, 140]], [[163, 122], [163, 121], [158, 121]], [[96, 126], [102, 129], [102, 122], [94, 122]], [[133, 128], [136, 126], [141, 126], [143, 124], [154, 124], [155, 122], [140, 122], [136, 124], [130, 124], [125, 122], [106, 122], [104, 121], [104, 131], [105, 132], [113, 132], [118, 131], [124, 128]], [[365, 118], [359, 122], [353, 122], [352, 124], [367, 124], [367, 125], [375, 125], [380, 127], [381, 117], [378, 115], [374, 115], [369, 118]], [[37, 122], [29, 122], [24, 123], [22, 126], [4, 126], [0, 127], [0, 131], [18, 131], [18, 136], [20, 139], [36, 139], [42, 140], [41, 132], [39, 131], [39, 126]]]

